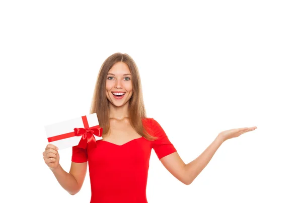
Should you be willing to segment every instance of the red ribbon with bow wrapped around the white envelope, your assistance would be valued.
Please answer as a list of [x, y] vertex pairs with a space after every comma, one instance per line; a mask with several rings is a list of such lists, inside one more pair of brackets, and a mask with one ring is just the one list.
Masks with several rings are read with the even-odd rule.
[[74, 136], [82, 136], [82, 139], [79, 142], [79, 147], [86, 149], [87, 145], [90, 147], [97, 147], [97, 141], [95, 136], [102, 137], [103, 128], [99, 125], [89, 127], [88, 120], [86, 116], [82, 116], [84, 128], [75, 127], [73, 132], [68, 132], [65, 134], [59, 134], [58, 136], [48, 138], [48, 142], [53, 142], [57, 140], [62, 140], [66, 138], [71, 138]]

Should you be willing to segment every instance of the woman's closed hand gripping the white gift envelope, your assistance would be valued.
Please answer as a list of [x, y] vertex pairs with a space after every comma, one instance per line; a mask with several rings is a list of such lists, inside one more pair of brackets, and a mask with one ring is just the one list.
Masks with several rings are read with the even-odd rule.
[[48, 144], [43, 152], [43, 158], [45, 164], [51, 169], [54, 170], [59, 166], [60, 156], [58, 153], [58, 148], [52, 144]]

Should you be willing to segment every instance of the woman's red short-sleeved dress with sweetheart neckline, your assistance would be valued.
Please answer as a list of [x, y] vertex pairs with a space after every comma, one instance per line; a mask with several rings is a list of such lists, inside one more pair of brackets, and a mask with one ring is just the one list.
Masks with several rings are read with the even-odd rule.
[[146, 184], [151, 150], [159, 159], [176, 152], [161, 125], [153, 118], [142, 119], [156, 141], [141, 137], [123, 145], [97, 141], [89, 151], [72, 147], [72, 162], [87, 162], [91, 203], [147, 203]]

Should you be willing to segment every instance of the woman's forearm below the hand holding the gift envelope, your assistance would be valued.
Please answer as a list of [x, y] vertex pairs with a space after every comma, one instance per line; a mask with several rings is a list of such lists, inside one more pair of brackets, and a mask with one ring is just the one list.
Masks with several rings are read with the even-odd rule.
[[52, 170], [55, 178], [59, 182], [59, 184], [70, 194], [77, 193], [81, 188], [74, 178], [74, 176], [70, 173], [64, 171], [64, 169], [59, 165], [57, 168]]

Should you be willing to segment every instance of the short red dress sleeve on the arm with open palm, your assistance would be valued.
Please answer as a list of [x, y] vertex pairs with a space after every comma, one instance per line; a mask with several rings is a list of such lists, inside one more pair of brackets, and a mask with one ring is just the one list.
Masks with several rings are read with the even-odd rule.
[[158, 158], [161, 159], [173, 152], [177, 152], [162, 126], [153, 118], [151, 118], [151, 122], [152, 131], [154, 132], [154, 136], [157, 137], [157, 140], [153, 141], [153, 149]]

